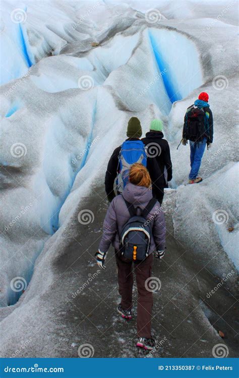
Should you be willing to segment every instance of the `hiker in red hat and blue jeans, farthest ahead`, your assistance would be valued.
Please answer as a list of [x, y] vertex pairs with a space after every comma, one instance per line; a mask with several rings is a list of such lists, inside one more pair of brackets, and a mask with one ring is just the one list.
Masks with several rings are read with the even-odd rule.
[[209, 96], [206, 92], [200, 93], [198, 100], [189, 106], [184, 117], [184, 129], [182, 144], [190, 144], [191, 171], [189, 173], [189, 184], [201, 182], [202, 177], [198, 177], [201, 160], [207, 145], [211, 147], [213, 141], [213, 117]]

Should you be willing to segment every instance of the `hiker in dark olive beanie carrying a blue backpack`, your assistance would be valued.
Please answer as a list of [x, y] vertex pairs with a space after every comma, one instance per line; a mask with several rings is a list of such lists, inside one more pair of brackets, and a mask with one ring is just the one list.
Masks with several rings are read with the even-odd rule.
[[142, 163], [147, 167], [153, 185], [153, 196], [160, 202], [163, 200], [164, 180], [163, 175], [155, 158], [146, 154], [144, 143], [140, 140], [142, 137], [142, 128], [140, 120], [137, 117], [131, 117], [128, 122], [126, 141], [115, 148], [107, 166], [105, 173], [105, 192], [108, 201], [111, 202], [115, 197], [114, 179], [116, 179], [117, 194], [123, 192], [129, 179], [129, 169], [133, 163]]

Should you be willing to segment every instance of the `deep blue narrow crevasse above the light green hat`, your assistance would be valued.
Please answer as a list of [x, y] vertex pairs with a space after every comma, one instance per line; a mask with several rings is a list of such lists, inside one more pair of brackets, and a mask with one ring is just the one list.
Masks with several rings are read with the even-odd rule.
[[154, 52], [155, 60], [159, 68], [159, 72], [161, 73], [163, 72], [163, 75], [161, 75], [161, 77], [162, 77], [163, 84], [164, 84], [169, 100], [171, 101], [171, 103], [181, 100], [182, 96], [180, 95], [180, 93], [177, 92], [176, 86], [174, 86], [171, 80], [170, 66], [163, 59], [162, 54], [160, 53], [156, 38], [152, 35], [150, 30], [149, 30], [149, 39], [150, 39], [150, 43]]

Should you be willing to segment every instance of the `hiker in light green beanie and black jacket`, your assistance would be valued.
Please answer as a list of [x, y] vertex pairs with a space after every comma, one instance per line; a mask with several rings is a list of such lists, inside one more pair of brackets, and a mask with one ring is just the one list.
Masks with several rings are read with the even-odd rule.
[[[168, 142], [163, 139], [163, 122], [153, 119], [150, 122], [149, 132], [141, 141], [148, 147], [148, 155], [155, 156], [161, 172], [163, 173], [164, 187], [172, 179], [172, 162]], [[160, 202], [160, 201], [159, 201]]]

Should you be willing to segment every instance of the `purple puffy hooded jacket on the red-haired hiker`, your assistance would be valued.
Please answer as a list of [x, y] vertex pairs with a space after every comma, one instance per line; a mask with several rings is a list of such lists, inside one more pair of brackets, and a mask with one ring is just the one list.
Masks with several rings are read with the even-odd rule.
[[[144, 209], [152, 198], [152, 191], [145, 186], [128, 183], [123, 196], [130, 204]], [[124, 198], [121, 195], [114, 197], [108, 208], [104, 218], [103, 236], [99, 244], [101, 252], [107, 252], [111, 243], [116, 249], [120, 247], [120, 234], [125, 223], [130, 219]], [[148, 214], [147, 219], [150, 219], [153, 226], [149, 253], [152, 253], [153, 250], [163, 250], [165, 248], [166, 226], [164, 214], [158, 202]]]

